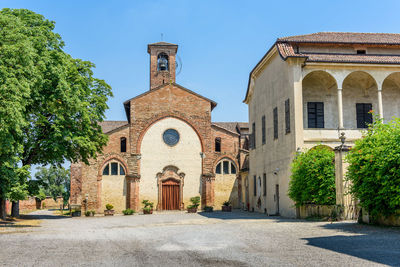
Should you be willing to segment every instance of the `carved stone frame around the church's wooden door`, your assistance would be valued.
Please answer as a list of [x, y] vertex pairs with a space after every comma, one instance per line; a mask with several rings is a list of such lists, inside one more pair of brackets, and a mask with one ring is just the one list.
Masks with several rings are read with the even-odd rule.
[[157, 184], [158, 184], [158, 203], [157, 210], [162, 210], [162, 184], [164, 181], [173, 179], [179, 183], [179, 209], [184, 210], [183, 204], [183, 185], [185, 173], [178, 172], [179, 168], [173, 165], [164, 167], [162, 172], [157, 173]]

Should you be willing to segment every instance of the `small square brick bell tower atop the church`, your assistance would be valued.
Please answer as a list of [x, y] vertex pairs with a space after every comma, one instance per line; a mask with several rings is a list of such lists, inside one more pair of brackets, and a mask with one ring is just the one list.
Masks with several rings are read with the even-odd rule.
[[150, 54], [150, 90], [175, 82], [175, 56], [178, 45], [166, 42], [158, 42], [147, 45]]

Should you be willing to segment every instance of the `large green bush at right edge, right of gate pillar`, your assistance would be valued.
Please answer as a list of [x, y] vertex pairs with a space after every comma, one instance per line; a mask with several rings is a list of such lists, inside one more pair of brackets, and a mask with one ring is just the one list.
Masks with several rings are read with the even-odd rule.
[[372, 216], [400, 210], [400, 119], [376, 119], [347, 155], [351, 193]]

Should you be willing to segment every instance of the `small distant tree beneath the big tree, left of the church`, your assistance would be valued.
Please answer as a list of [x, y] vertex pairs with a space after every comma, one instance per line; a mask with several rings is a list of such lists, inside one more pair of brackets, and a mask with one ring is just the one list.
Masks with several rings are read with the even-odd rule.
[[35, 178], [46, 196], [51, 196], [54, 200], [62, 196], [68, 202], [70, 189], [69, 170], [56, 166], [50, 166], [49, 168], [39, 167]]

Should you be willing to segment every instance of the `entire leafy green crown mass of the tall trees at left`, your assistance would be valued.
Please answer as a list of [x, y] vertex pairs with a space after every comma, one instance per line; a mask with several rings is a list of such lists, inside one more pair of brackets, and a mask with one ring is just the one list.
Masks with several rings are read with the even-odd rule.
[[99, 122], [111, 87], [63, 51], [54, 27], [30, 10], [0, 11], [0, 200], [16, 166], [88, 163], [107, 143]]

